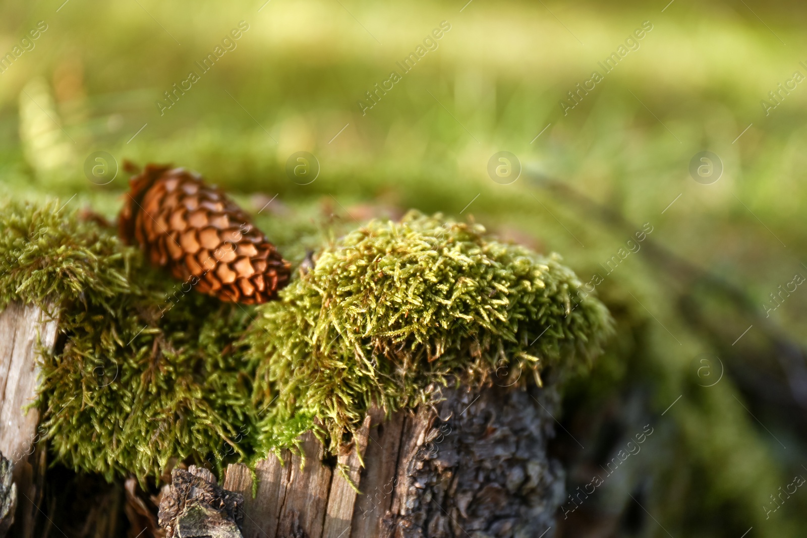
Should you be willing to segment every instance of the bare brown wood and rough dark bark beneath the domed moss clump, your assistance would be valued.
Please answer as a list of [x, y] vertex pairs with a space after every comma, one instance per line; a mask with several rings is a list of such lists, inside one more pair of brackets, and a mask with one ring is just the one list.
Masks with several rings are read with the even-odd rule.
[[[551, 387], [443, 390], [436, 406], [373, 410], [339, 457], [357, 493], [324, 447], [303, 435], [303, 458], [245, 465], [224, 488], [245, 498], [245, 538], [541, 536], [554, 525], [564, 475], [546, 453], [554, 432]], [[362, 455], [365, 463], [360, 466]], [[302, 465], [302, 466], [301, 466]]]

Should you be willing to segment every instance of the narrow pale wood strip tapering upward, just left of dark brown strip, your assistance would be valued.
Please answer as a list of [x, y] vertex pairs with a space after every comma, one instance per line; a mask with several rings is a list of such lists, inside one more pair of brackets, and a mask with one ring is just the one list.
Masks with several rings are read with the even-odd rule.
[[[362, 458], [367, 448], [370, 423], [372, 418], [367, 415], [362, 428], [353, 440], [353, 447], [349, 453], [339, 457], [340, 465], [345, 465], [347, 478], [336, 472], [331, 482], [328, 494], [328, 511], [325, 513], [325, 526], [323, 538], [348, 538], [350, 522], [353, 519], [353, 507], [356, 503], [357, 492], [354, 489], [362, 478]], [[350, 482], [353, 482], [351, 485]]]

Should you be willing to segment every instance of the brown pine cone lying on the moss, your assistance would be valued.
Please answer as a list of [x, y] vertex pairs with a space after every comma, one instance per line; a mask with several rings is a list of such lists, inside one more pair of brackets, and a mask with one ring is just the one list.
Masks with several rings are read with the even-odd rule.
[[277, 298], [291, 265], [249, 216], [195, 172], [146, 165], [129, 180], [118, 217], [121, 238], [154, 265], [222, 301]]

